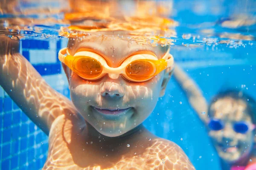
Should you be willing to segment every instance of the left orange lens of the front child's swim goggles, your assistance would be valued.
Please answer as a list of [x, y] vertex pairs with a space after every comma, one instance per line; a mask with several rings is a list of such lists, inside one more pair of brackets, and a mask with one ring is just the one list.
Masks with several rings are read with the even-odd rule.
[[102, 65], [91, 57], [78, 57], [73, 65], [79, 76], [84, 78], [98, 77], [102, 73]]

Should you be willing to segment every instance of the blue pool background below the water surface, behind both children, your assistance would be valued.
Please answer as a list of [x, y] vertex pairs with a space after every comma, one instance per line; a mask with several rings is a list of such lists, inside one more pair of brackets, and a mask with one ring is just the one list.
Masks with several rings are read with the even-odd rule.
[[[57, 59], [57, 51], [66, 43], [67, 40], [24, 40], [21, 51], [53, 88], [69, 97], [66, 78]], [[30, 47], [29, 44], [33, 46]], [[36, 57], [30, 55], [41, 50], [52, 52], [55, 59], [47, 61], [45, 54]], [[222, 51], [191, 49], [187, 51], [189, 54], [184, 54], [184, 49], [174, 48], [172, 54], [177, 56], [177, 63], [195, 79], [209, 101], [221, 88], [241, 88], [241, 85], [246, 85], [248, 90], [244, 91], [256, 97], [256, 59], [253, 50], [255, 47], [250, 46], [231, 49], [226, 52], [226, 56], [231, 56], [230, 58], [218, 60], [216, 58]], [[204, 57], [207, 54], [212, 57]], [[198, 55], [201, 56], [199, 59]], [[238, 62], [234, 62], [234, 59]], [[47, 157], [48, 137], [20, 111], [3, 89], [0, 90], [0, 103], [2, 169], [40, 169]], [[205, 170], [205, 167], [208, 170], [219, 169], [218, 156], [207, 137], [204, 125], [190, 108], [175, 79], [170, 80], [166, 95], [159, 99], [157, 107], [144, 124], [157, 136], [179, 144], [197, 170]]]

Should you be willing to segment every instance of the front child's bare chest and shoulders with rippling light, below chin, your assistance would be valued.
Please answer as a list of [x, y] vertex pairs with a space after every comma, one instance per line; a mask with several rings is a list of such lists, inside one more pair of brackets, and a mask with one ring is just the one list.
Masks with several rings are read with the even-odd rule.
[[[181, 148], [165, 139], [151, 140], [145, 135], [138, 135], [136, 138], [140, 139], [139, 142], [128, 142], [130, 145], [127, 147], [127, 143], [117, 141], [115, 145], [120, 147], [116, 148], [111, 144], [105, 145], [102, 136], [97, 138], [97, 142], [86, 138], [73, 123], [74, 119], [73, 116], [57, 118], [55, 128], [50, 132], [49, 155], [43, 169], [194, 169]], [[101, 154], [94, 155], [92, 150]]]

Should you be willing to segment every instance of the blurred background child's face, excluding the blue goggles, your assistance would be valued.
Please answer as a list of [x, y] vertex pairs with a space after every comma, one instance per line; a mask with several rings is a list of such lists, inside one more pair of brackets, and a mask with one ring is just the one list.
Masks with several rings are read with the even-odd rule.
[[228, 162], [238, 161], [239, 158], [248, 155], [253, 147], [253, 131], [241, 134], [233, 130], [234, 122], [252, 122], [246, 108], [244, 101], [231, 97], [218, 99], [210, 108], [210, 117], [224, 121], [225, 127], [223, 130], [210, 130], [209, 136], [218, 155]]

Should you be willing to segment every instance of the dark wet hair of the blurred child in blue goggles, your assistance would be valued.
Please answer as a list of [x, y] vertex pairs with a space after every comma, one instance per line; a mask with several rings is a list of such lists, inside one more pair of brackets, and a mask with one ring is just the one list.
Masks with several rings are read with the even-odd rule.
[[256, 101], [248, 94], [244, 93], [241, 90], [236, 90], [236, 89], [218, 92], [218, 94], [212, 98], [209, 104], [209, 107], [208, 107], [209, 115], [210, 115], [210, 108], [212, 104], [214, 104], [218, 99], [223, 99], [226, 97], [230, 97], [235, 100], [242, 100], [244, 103], [246, 103], [247, 105], [246, 111], [251, 117], [253, 124], [256, 124]]

